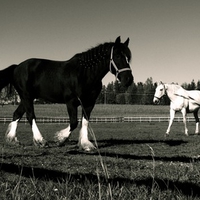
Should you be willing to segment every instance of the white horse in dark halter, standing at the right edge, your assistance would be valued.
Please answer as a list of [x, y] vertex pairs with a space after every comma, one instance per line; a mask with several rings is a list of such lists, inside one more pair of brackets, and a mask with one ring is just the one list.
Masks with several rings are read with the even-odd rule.
[[187, 113], [193, 113], [196, 121], [195, 133], [199, 133], [199, 117], [198, 110], [200, 108], [200, 91], [198, 90], [185, 90], [180, 85], [176, 84], [160, 84], [157, 86], [153, 102], [158, 104], [160, 99], [167, 95], [171, 101], [170, 103], [170, 121], [166, 131], [166, 135], [169, 135], [171, 125], [173, 123], [175, 113], [181, 111], [183, 114], [183, 123], [185, 126], [185, 135], [188, 135], [188, 129], [186, 125]]

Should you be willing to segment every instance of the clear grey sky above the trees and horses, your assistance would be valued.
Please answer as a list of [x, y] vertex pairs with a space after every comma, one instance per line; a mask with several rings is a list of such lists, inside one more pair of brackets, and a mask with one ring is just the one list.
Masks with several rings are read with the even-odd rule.
[[[130, 38], [135, 83], [200, 80], [199, 0], [0, 0], [0, 70]], [[108, 73], [103, 84], [115, 81]]]

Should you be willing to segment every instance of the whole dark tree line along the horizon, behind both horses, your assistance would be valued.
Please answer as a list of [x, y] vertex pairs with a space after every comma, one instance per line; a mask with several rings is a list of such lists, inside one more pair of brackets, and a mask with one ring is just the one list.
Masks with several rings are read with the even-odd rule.
[[[183, 83], [181, 85], [186, 90], [200, 90], [200, 80], [196, 83], [194, 80], [191, 83]], [[143, 82], [133, 83], [128, 89], [125, 89], [116, 80], [115, 82], [108, 83], [107, 86], [103, 85], [101, 93], [99, 94], [96, 103], [98, 104], [153, 104], [153, 97], [157, 83], [153, 82], [152, 77], [147, 78]], [[12, 86], [5, 87], [0, 92], [0, 103], [3, 104], [18, 104], [20, 102], [19, 96]], [[37, 103], [48, 103], [42, 99], [37, 99]], [[169, 98], [164, 96], [161, 100], [162, 105], [168, 105]]]

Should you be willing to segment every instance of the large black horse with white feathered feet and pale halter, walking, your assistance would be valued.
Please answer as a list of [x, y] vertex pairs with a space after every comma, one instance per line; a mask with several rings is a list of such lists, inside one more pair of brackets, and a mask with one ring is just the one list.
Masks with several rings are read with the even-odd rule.
[[46, 145], [46, 140], [36, 125], [33, 107], [34, 99], [41, 98], [67, 105], [70, 124], [55, 136], [60, 145], [77, 127], [77, 107], [81, 105], [83, 111], [79, 147], [86, 151], [95, 148], [88, 140], [87, 127], [90, 113], [102, 88], [103, 77], [110, 71], [125, 87], [133, 82], [129, 65], [131, 51], [128, 44], [129, 38], [121, 43], [118, 37], [114, 43], [100, 44], [76, 54], [67, 61], [34, 58], [0, 71], [0, 90], [11, 84], [21, 99], [13, 114], [13, 121], [8, 126], [6, 141], [18, 143], [17, 124], [26, 112], [27, 120], [32, 127], [34, 144], [41, 147]]

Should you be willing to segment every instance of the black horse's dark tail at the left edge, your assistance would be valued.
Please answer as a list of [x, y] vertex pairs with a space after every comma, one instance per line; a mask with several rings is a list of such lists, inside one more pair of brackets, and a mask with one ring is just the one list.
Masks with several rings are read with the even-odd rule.
[[0, 91], [8, 84], [13, 82], [13, 72], [17, 65], [11, 65], [10, 67], [0, 71]]

